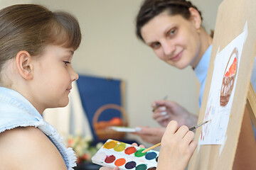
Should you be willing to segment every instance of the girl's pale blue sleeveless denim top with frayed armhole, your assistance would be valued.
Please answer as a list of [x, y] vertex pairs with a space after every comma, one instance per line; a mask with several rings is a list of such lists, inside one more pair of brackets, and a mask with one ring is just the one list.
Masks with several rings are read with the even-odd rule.
[[34, 126], [40, 129], [57, 147], [68, 170], [76, 166], [75, 152], [63, 145], [63, 138], [33, 105], [17, 91], [0, 87], [0, 132], [17, 127]]

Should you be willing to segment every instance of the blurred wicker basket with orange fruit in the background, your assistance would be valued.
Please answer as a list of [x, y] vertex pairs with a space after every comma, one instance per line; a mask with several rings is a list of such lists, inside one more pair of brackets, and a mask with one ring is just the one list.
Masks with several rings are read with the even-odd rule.
[[97, 109], [95, 112], [95, 115], [93, 117], [92, 123], [93, 128], [95, 130], [95, 134], [100, 140], [107, 140], [107, 139], [113, 139], [113, 140], [120, 140], [124, 138], [125, 132], [117, 132], [112, 129], [110, 129], [110, 126], [113, 124], [110, 121], [100, 121], [98, 122], [98, 118], [100, 114], [107, 110], [107, 109], [116, 109], [117, 111], [120, 111], [122, 115], [122, 123], [119, 123], [118, 126], [127, 126], [128, 125], [128, 119], [127, 119], [127, 113], [124, 111], [124, 108], [121, 106], [118, 106], [116, 104], [106, 104], [101, 106]]

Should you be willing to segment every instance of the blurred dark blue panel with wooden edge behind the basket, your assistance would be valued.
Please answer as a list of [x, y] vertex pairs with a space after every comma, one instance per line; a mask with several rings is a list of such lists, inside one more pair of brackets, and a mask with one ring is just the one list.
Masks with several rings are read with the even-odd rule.
[[[99, 136], [95, 130], [95, 124], [110, 122], [113, 118], [122, 120], [123, 125], [128, 125], [128, 119], [124, 111], [124, 81], [119, 79], [107, 79], [79, 75], [77, 81], [82, 107], [90, 123], [90, 129], [94, 142], [105, 142], [106, 138]], [[95, 115], [97, 113], [97, 115]], [[111, 135], [109, 135], [112, 137]], [[109, 137], [109, 138], [110, 138]], [[113, 138], [113, 137], [112, 137]], [[120, 134], [117, 140], [129, 142]], [[133, 141], [132, 141], [133, 142]]]

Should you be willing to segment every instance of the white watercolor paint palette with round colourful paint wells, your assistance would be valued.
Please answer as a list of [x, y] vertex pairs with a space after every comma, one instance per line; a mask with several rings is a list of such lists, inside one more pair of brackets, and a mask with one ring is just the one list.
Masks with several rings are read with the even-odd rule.
[[117, 140], [107, 140], [92, 157], [92, 162], [113, 168], [119, 166], [119, 169], [122, 170], [156, 169], [159, 152], [150, 150], [142, 153], [144, 149]]

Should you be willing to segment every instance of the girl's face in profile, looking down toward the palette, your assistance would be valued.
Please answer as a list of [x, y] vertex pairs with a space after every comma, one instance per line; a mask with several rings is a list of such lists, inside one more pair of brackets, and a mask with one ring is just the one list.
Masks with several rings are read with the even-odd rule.
[[71, 66], [73, 48], [48, 45], [43, 55], [34, 61], [33, 106], [39, 110], [68, 105], [68, 94], [78, 74]]

